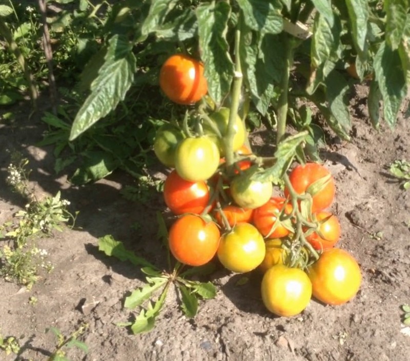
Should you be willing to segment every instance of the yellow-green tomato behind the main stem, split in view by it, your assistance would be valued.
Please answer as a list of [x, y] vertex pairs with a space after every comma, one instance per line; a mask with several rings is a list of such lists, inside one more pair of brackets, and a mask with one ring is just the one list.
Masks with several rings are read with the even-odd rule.
[[[214, 125], [218, 128], [222, 137], [227, 135], [228, 123], [229, 123], [229, 108], [220, 108], [218, 111], [212, 113], [209, 117], [213, 121]], [[242, 119], [237, 115], [236, 122], [234, 124], [235, 136], [233, 142], [233, 151], [239, 150], [245, 141], [245, 128], [243, 126]], [[204, 132], [216, 143], [219, 148], [221, 155], [224, 155], [223, 141], [220, 139], [215, 131], [209, 126], [208, 123], [204, 123], [203, 126]]]

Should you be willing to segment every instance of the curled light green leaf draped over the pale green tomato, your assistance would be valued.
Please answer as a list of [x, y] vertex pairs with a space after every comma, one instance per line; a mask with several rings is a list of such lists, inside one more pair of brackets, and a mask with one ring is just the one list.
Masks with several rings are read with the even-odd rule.
[[297, 147], [305, 141], [307, 136], [308, 132], [302, 131], [280, 142], [275, 151], [276, 163], [270, 168], [255, 173], [251, 179], [259, 182], [277, 182], [288, 170], [296, 154]]

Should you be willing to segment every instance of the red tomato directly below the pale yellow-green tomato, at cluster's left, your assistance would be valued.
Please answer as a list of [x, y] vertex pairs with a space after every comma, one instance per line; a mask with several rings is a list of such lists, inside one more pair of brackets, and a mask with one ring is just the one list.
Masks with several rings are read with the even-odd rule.
[[174, 214], [200, 214], [208, 206], [209, 189], [205, 182], [188, 182], [174, 169], [165, 180], [163, 199]]

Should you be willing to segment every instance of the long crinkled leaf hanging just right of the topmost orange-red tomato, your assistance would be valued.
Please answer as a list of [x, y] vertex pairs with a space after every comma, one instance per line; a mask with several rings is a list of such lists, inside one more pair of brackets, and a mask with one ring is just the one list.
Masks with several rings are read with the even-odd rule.
[[230, 13], [227, 2], [202, 3], [196, 9], [204, 76], [209, 95], [217, 104], [229, 93], [233, 79], [234, 66], [226, 39]]

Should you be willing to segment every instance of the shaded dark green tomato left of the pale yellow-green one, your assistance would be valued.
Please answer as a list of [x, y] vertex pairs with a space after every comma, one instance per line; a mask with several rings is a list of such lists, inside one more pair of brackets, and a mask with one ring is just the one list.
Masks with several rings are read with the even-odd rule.
[[184, 138], [182, 131], [172, 124], [163, 124], [158, 128], [155, 134], [154, 152], [163, 165], [175, 167], [175, 150]]

